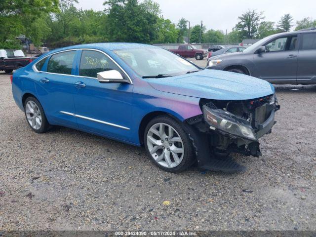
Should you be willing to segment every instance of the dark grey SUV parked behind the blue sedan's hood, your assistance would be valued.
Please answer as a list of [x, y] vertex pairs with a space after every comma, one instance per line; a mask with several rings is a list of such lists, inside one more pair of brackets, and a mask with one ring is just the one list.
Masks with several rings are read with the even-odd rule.
[[266, 37], [242, 53], [210, 58], [207, 68], [247, 74], [272, 83], [316, 84], [316, 29]]

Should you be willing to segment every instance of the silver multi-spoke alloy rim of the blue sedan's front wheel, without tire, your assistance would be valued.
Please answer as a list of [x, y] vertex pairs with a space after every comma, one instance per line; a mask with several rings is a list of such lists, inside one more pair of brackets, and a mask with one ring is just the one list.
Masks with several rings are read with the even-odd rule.
[[148, 130], [147, 147], [152, 158], [166, 168], [178, 166], [184, 156], [184, 144], [179, 133], [162, 122], [154, 124]]

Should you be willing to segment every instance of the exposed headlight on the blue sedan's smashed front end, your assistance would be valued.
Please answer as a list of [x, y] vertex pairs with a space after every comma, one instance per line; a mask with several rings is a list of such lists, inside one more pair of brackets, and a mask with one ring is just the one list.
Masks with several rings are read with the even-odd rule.
[[242, 118], [237, 118], [230, 112], [219, 109], [210, 109], [203, 105], [203, 116], [212, 130], [219, 129], [248, 140], [258, 140], [250, 122]]

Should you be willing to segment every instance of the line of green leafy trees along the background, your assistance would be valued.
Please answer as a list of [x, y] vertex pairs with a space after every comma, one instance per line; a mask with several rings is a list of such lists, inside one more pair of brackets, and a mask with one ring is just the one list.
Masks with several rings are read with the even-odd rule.
[[[0, 48], [18, 48], [16, 37], [25, 35], [37, 46], [51, 48], [81, 43], [122, 41], [141, 43], [182, 43], [189, 35], [188, 21], [177, 24], [165, 19], [153, 0], [106, 0], [103, 11], [76, 7], [78, 0], [1, 0]], [[237, 43], [243, 39], [261, 39], [287, 32], [293, 17], [285, 14], [275, 23], [263, 12], [248, 10], [225, 35], [205, 26], [190, 28], [190, 42]], [[316, 20], [304, 18], [295, 30], [316, 27]]]

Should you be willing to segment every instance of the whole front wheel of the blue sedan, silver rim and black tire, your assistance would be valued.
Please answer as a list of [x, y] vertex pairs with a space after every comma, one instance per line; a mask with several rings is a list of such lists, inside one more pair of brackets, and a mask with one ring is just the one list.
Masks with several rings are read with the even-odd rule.
[[169, 116], [158, 116], [147, 124], [144, 145], [152, 161], [168, 172], [185, 170], [195, 160], [189, 135], [180, 122]]

